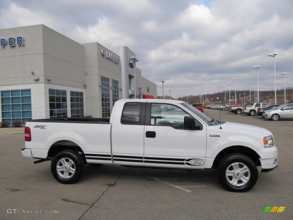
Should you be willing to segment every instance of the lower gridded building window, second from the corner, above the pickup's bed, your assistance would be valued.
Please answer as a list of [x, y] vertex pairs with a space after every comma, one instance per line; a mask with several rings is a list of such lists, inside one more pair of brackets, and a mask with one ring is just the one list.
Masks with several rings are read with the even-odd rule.
[[71, 117], [84, 117], [84, 93], [70, 91]]

